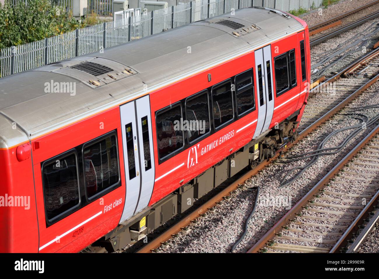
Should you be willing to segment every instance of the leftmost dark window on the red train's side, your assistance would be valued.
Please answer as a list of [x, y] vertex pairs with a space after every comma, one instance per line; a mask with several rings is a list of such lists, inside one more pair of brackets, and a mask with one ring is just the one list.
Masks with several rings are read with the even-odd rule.
[[48, 220], [56, 218], [80, 203], [78, 160], [76, 153], [53, 159], [42, 166], [45, 210]]

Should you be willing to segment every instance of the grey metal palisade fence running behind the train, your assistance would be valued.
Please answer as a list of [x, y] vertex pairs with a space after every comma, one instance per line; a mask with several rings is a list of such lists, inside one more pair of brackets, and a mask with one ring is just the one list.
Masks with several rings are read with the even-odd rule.
[[290, 11], [317, 8], [322, 0], [195, 0], [94, 25], [41, 41], [0, 49], [0, 77], [99, 51], [194, 21], [251, 6]]

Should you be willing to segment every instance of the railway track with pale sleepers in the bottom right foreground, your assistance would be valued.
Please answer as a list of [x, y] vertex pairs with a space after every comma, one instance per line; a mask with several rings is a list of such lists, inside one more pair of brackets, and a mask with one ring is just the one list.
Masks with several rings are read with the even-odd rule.
[[248, 252], [344, 252], [379, 200], [379, 125]]

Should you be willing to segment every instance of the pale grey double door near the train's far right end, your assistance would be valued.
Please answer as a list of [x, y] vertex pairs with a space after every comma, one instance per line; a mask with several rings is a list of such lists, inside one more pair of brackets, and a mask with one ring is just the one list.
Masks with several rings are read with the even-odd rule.
[[271, 46], [255, 50], [255, 75], [257, 79], [258, 121], [254, 138], [266, 131], [274, 113]]

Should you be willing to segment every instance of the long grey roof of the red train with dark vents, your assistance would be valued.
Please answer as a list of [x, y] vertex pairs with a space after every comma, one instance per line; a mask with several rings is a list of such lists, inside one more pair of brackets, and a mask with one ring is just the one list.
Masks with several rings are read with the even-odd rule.
[[[3, 77], [0, 148], [41, 136], [302, 29], [301, 22], [280, 11], [245, 8]], [[68, 92], [54, 93], [65, 89]]]

